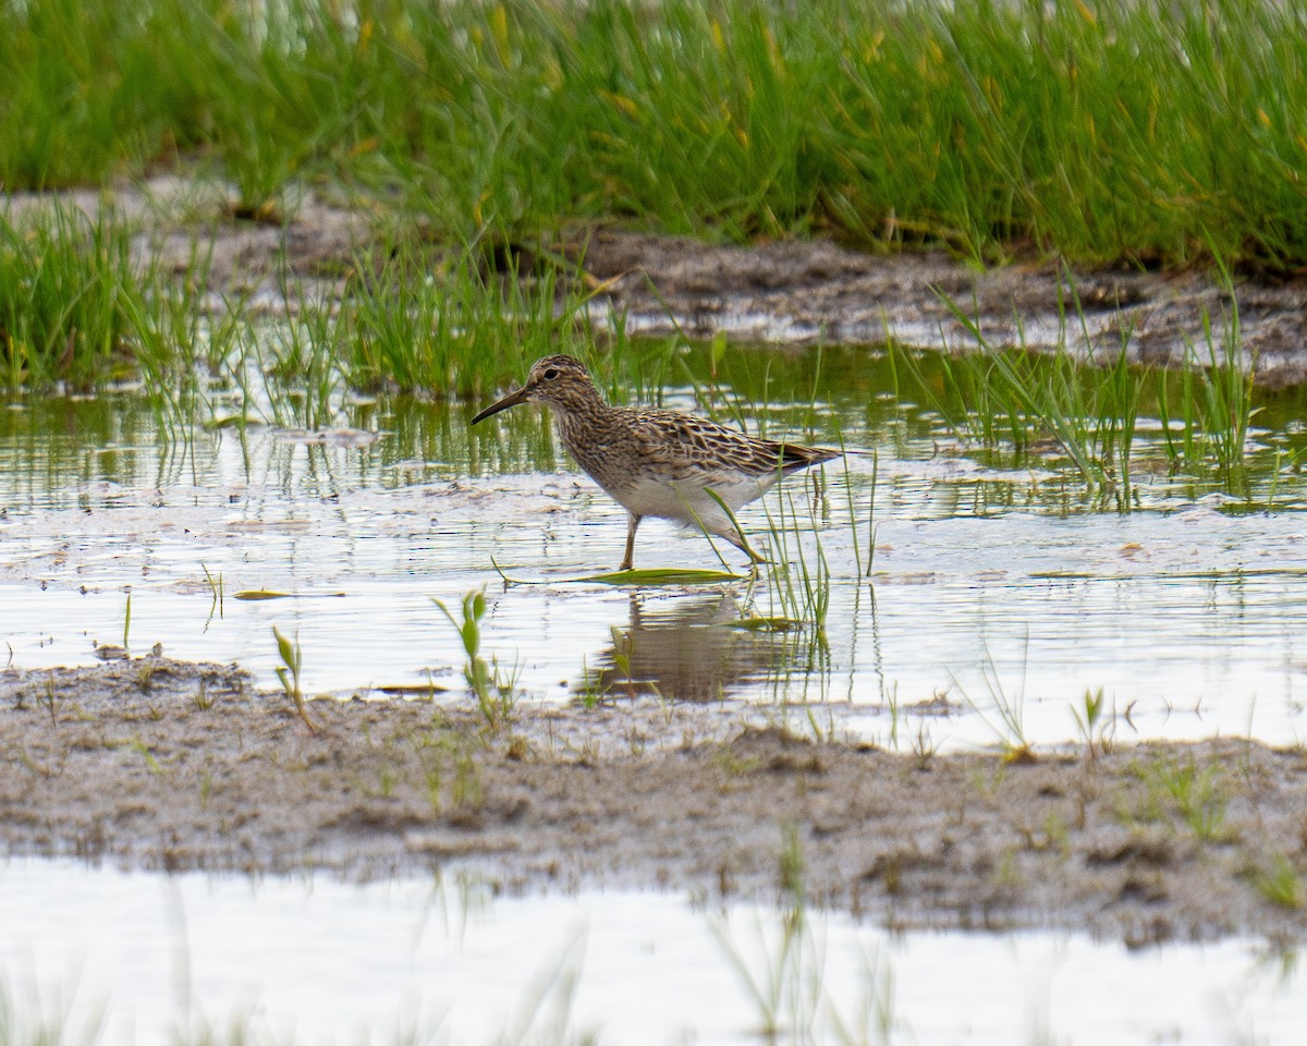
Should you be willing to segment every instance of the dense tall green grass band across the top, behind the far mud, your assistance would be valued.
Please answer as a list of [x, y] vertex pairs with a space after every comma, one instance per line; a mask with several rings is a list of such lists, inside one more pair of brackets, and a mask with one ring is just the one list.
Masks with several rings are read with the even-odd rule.
[[617, 218], [1307, 262], [1294, 4], [29, 0], [0, 65], [8, 190], [197, 158], [239, 213], [342, 179], [451, 242]]

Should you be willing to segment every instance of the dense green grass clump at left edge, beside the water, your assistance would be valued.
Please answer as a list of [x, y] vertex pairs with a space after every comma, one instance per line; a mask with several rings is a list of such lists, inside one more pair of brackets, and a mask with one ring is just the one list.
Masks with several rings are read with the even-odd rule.
[[142, 310], [118, 220], [63, 208], [0, 217], [0, 380], [10, 391], [124, 377]]

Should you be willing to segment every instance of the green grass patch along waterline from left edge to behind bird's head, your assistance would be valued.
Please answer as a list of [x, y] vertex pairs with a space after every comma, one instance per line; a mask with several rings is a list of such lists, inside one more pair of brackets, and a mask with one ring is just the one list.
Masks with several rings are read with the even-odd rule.
[[349, 391], [480, 397], [571, 341], [592, 354], [593, 292], [570, 267], [519, 278], [484, 271], [474, 247], [396, 246], [379, 265], [358, 259], [339, 302], [285, 285], [298, 307], [268, 322], [242, 301], [214, 314], [199, 254], [184, 280], [133, 264], [132, 237], [110, 209], [0, 213], [0, 387], [89, 391], [139, 379], [174, 437], [250, 421], [316, 430], [341, 424]]

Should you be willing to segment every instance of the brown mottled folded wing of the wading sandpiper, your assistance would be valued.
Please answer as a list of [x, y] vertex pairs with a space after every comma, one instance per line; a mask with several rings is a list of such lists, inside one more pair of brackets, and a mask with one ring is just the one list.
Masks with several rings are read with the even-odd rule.
[[737, 429], [680, 411], [633, 411], [631, 435], [642, 456], [661, 464], [672, 479], [690, 476], [765, 476], [793, 472], [838, 458], [839, 451], [755, 439]]

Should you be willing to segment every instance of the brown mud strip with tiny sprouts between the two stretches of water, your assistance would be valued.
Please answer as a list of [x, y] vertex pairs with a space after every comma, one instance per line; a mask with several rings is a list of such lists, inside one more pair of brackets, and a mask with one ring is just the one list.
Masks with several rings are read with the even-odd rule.
[[0, 846], [348, 876], [471, 862], [506, 889], [708, 898], [775, 898], [801, 852], [814, 901], [898, 926], [1307, 936], [1299, 749], [1005, 762], [814, 741], [731, 706], [521, 705], [490, 724], [471, 703], [311, 701], [311, 734], [233, 667], [8, 671]]

